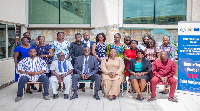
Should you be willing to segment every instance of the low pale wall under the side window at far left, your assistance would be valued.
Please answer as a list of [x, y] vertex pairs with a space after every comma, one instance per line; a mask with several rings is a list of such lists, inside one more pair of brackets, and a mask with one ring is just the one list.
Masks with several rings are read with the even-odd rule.
[[13, 59], [0, 61], [0, 85], [15, 78], [15, 64]]

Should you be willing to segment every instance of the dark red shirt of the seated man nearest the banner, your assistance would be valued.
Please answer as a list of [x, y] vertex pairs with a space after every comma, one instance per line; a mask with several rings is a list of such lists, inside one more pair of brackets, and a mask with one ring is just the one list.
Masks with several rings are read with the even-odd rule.
[[171, 59], [167, 59], [166, 62], [158, 59], [153, 62], [151, 70], [157, 77], [173, 77], [176, 74], [176, 65]]

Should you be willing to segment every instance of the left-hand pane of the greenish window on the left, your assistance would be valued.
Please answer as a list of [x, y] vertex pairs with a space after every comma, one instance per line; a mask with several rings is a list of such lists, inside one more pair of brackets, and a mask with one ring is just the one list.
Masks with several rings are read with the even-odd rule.
[[29, 0], [29, 24], [59, 24], [59, 0]]

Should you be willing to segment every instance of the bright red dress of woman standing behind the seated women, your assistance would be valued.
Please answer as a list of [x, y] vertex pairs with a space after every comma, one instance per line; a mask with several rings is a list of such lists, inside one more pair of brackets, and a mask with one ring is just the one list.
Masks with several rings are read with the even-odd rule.
[[[134, 58], [136, 58], [136, 51], [137, 51], [137, 49], [135, 49], [135, 50], [126, 49], [124, 55], [126, 55], [128, 58], [134, 59]], [[129, 65], [129, 61], [127, 61], [127, 63], [126, 63], [126, 71], [125, 71], [126, 76], [129, 76], [129, 73], [127, 71], [128, 65]]]

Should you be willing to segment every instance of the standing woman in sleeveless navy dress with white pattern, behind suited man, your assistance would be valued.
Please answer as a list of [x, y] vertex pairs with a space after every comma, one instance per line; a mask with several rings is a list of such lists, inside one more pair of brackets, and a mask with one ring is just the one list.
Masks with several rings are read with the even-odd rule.
[[92, 45], [92, 55], [98, 59], [99, 66], [101, 66], [101, 61], [106, 56], [107, 45], [105, 40], [106, 35], [104, 33], [99, 33], [96, 36], [96, 43]]

